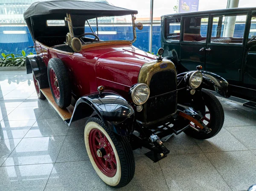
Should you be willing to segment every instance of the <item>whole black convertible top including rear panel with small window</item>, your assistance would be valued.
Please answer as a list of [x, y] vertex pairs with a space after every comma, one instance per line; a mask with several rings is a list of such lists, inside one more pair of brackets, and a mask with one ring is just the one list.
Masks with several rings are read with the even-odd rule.
[[[52, 41], [59, 39], [63, 43], [69, 32], [67, 21], [64, 21], [67, 13], [71, 15], [74, 34], [79, 35], [84, 33], [86, 20], [137, 14], [138, 11], [115, 7], [107, 3], [52, 0], [32, 3], [24, 12], [24, 19], [33, 40], [48, 40], [49, 42], [44, 44], [51, 44]], [[47, 26], [47, 20], [63, 20], [65, 26]]]

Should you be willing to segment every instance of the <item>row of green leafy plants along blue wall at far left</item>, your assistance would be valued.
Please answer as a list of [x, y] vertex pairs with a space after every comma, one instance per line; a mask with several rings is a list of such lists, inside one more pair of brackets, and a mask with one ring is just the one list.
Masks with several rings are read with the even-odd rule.
[[[5, 54], [2, 53], [2, 57], [0, 58], [0, 67], [13, 67], [16, 66], [20, 68], [21, 66], [25, 66], [25, 61], [26, 61], [26, 52], [21, 51], [22, 55], [19, 54]], [[29, 54], [33, 54], [30, 52]], [[15, 57], [18, 56], [18, 57]]]

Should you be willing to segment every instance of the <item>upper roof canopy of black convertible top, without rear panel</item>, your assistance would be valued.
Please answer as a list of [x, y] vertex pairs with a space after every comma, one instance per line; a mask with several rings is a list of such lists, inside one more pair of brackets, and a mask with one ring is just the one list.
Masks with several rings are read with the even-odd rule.
[[46, 14], [79, 14], [90, 15], [91, 18], [97, 16], [123, 16], [128, 14], [137, 14], [138, 11], [124, 9], [107, 3], [87, 2], [87, 1], [70, 1], [56, 0], [35, 2], [24, 12], [24, 19], [36, 15]]

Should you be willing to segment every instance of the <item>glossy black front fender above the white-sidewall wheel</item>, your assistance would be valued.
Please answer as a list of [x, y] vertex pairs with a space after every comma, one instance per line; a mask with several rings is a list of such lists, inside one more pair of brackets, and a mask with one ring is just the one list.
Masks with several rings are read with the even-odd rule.
[[95, 92], [80, 97], [70, 121], [66, 122], [70, 125], [73, 121], [89, 117], [94, 111], [114, 133], [128, 136], [134, 131], [136, 120], [133, 108], [113, 91], [104, 91], [101, 94]]

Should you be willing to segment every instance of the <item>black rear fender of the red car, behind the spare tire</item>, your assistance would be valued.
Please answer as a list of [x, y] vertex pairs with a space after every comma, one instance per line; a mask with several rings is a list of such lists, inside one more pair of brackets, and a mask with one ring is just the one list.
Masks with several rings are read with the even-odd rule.
[[41, 89], [49, 87], [47, 67], [39, 55], [29, 55], [26, 57], [26, 71], [27, 74], [34, 73], [35, 79], [39, 81]]

